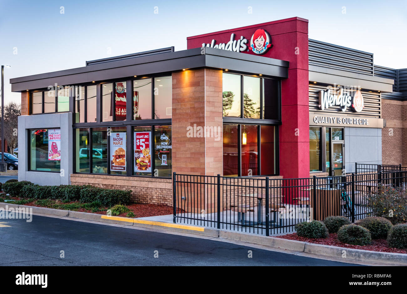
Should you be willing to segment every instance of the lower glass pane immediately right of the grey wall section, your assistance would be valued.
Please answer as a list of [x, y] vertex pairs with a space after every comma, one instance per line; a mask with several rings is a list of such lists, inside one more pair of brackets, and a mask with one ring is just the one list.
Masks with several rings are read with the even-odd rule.
[[[89, 128], [75, 129], [75, 172], [90, 172]], [[95, 150], [96, 151], [96, 150]], [[95, 154], [92, 152], [92, 155]]]

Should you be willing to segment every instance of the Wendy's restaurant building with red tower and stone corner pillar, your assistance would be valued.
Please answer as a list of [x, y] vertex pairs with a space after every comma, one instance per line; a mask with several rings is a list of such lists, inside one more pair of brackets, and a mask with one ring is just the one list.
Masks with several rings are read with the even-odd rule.
[[293, 17], [13, 78], [18, 178], [172, 205], [173, 172], [308, 178], [402, 163], [406, 75], [309, 39]]

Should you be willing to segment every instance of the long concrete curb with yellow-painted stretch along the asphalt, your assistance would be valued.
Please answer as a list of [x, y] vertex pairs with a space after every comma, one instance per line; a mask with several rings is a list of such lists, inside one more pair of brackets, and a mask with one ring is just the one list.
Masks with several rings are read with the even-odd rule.
[[[259, 244], [269, 246], [271, 248], [285, 249], [291, 251], [291, 253], [307, 253], [310, 255], [316, 255], [319, 257], [328, 257], [334, 259], [343, 259], [347, 262], [359, 261], [365, 263], [376, 263], [383, 265], [403, 265], [407, 266], [407, 254], [403, 253], [388, 253], [368, 251], [361, 249], [343, 248], [322, 244], [307, 243], [295, 240], [287, 240], [276, 237], [267, 237], [263, 235], [256, 235], [254, 233], [226, 231], [212, 228], [202, 228], [200, 226], [184, 225], [184, 224], [172, 224], [167, 222], [156, 222], [150, 220], [140, 220], [136, 218], [123, 218], [123, 217], [108, 217], [102, 214], [80, 212], [80, 211], [68, 211], [61, 209], [45, 208], [45, 207], [33, 207], [26, 205], [17, 205], [11, 203], [0, 203], [1, 208], [5, 208], [6, 205], [9, 208], [32, 208], [33, 213], [48, 214], [50, 216], [61, 216], [69, 218], [77, 218], [81, 220], [93, 220], [98, 222], [105, 222], [110, 224], [122, 224], [127, 226], [137, 226], [149, 229], [163, 229], [165, 231], [190, 233], [195, 235], [202, 235], [214, 238], [224, 238], [234, 241], [247, 242], [251, 244]], [[104, 218], [102, 218], [102, 216]], [[199, 228], [199, 231], [197, 229]], [[346, 257], [343, 255], [346, 253]]]

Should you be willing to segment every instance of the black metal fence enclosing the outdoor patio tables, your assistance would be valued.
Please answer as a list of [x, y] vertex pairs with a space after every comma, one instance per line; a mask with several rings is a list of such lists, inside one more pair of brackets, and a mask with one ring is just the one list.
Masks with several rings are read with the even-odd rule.
[[327, 216], [345, 216], [354, 222], [367, 216], [368, 197], [379, 185], [405, 187], [406, 182], [405, 168], [302, 179], [174, 172], [174, 222], [267, 236]]

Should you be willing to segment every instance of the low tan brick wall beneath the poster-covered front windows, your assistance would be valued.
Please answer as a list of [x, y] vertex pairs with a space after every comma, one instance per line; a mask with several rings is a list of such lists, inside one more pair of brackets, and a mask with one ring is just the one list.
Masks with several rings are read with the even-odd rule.
[[131, 202], [173, 205], [172, 179], [71, 174], [72, 185], [131, 190]]

